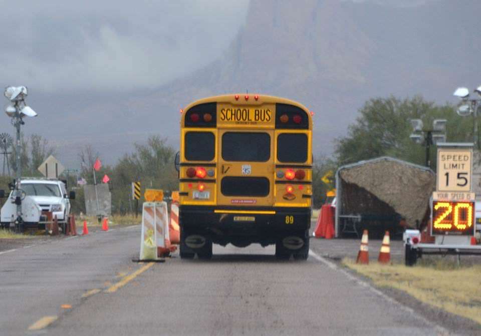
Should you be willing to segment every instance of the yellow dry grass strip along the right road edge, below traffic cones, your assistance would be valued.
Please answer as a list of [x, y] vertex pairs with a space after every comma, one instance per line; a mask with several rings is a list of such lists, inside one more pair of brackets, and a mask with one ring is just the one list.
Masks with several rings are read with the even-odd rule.
[[377, 286], [403, 290], [416, 299], [481, 323], [481, 265], [457, 266], [454, 261], [358, 265], [343, 264], [372, 279]]

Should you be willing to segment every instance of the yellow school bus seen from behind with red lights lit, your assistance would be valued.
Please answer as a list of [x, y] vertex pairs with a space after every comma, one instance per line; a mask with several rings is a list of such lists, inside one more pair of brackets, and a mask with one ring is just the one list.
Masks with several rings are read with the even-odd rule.
[[212, 256], [212, 243], [276, 244], [280, 259], [307, 259], [312, 198], [312, 117], [264, 95], [189, 104], [180, 121], [180, 256]]

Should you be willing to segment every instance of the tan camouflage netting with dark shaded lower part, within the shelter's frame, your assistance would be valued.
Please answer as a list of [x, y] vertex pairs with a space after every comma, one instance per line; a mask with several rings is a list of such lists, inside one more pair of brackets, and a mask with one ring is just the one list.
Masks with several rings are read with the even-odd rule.
[[432, 171], [391, 158], [344, 168], [339, 175], [342, 214], [398, 215], [409, 227], [425, 219], [436, 183]]

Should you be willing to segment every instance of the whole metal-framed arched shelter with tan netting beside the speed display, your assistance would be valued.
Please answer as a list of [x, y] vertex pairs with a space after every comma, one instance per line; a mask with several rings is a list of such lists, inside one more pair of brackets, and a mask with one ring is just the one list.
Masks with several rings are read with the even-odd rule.
[[336, 172], [336, 237], [362, 234], [399, 236], [429, 220], [434, 172], [410, 162], [379, 157], [340, 167]]

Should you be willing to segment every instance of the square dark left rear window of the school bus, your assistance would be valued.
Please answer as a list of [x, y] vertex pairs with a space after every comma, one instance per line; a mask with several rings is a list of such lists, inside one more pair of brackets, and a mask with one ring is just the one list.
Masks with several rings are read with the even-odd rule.
[[215, 138], [211, 132], [187, 132], [185, 134], [185, 159], [189, 161], [212, 161]]

